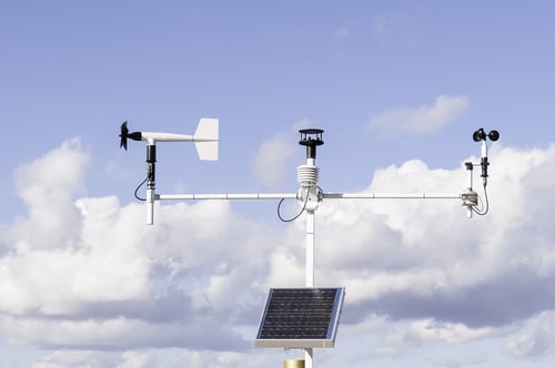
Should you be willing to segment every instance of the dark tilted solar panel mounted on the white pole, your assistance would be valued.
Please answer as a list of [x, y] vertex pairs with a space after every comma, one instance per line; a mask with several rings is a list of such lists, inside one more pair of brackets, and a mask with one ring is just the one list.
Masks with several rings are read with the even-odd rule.
[[332, 348], [345, 289], [272, 288], [255, 347]]

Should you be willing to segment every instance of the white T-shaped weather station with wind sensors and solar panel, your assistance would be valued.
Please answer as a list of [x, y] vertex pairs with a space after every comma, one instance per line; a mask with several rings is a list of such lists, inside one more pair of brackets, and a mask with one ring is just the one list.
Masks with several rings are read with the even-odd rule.
[[[147, 203], [147, 224], [154, 224], [154, 203], [157, 201], [198, 201], [198, 200], [279, 200], [278, 216], [283, 222], [292, 222], [305, 216], [305, 287], [271, 288], [262, 310], [254, 346], [259, 348], [284, 348], [304, 350], [304, 359], [285, 360], [289, 368], [312, 368], [314, 348], [335, 347], [335, 337], [345, 297], [344, 287], [314, 286], [314, 243], [315, 212], [324, 200], [458, 200], [466, 209], [466, 217], [473, 214], [486, 215], [490, 208], [487, 198], [487, 140], [500, 139], [497, 131], [486, 133], [478, 129], [473, 140], [482, 143], [481, 162], [465, 162], [466, 187], [461, 193], [325, 193], [319, 186], [316, 150], [324, 144], [321, 129], [303, 129], [299, 144], [306, 149], [306, 162], [297, 167], [299, 190], [295, 193], [243, 193], [243, 194], [158, 194], [155, 193], [155, 144], [157, 142], [193, 142], [201, 160], [218, 160], [219, 120], [201, 119], [193, 135], [155, 132], [132, 132], [127, 122], [121, 125], [120, 146], [128, 147], [128, 139], [147, 142], [147, 177], [137, 187], [135, 197]], [[482, 196], [474, 191], [474, 167], [482, 168]], [[138, 191], [147, 184], [147, 195], [139, 197]], [[300, 209], [291, 218], [281, 215], [285, 200], [296, 200]]]

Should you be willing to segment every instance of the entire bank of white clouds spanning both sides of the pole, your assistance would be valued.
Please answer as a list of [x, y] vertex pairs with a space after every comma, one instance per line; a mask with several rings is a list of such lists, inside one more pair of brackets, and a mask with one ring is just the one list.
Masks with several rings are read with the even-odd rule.
[[[491, 336], [507, 337], [514, 356], [553, 351], [555, 145], [497, 146], [490, 156], [486, 217], [466, 219], [455, 200], [323, 201], [315, 282], [346, 287], [347, 338], [395, 324], [376, 354]], [[157, 224], [145, 226], [140, 204], [78, 196], [87, 161], [71, 141], [16, 175], [29, 212], [0, 234], [1, 338], [121, 352], [104, 366], [147, 367], [144, 347], [184, 349], [190, 359], [211, 350], [219, 366], [236, 364], [252, 347], [268, 288], [303, 284], [304, 222], [283, 231], [206, 201], [157, 205]], [[465, 174], [463, 165], [408, 161], [376, 170], [366, 191], [456, 194]], [[48, 195], [54, 187], [64, 191]], [[49, 207], [57, 218], [41, 225]], [[43, 236], [30, 236], [36, 226]]]

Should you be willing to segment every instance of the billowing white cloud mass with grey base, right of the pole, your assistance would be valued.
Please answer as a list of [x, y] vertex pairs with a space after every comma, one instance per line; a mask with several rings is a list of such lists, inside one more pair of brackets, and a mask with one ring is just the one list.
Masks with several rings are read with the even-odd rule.
[[[554, 152], [497, 151], [490, 183], [492, 213], [484, 218], [465, 219], [458, 202], [345, 201], [330, 209], [322, 206], [321, 213], [333, 213], [322, 215], [320, 225], [325, 249], [321, 259], [327, 267], [323, 276], [343, 280], [351, 300], [360, 304], [361, 319], [373, 310], [394, 319], [433, 317], [481, 328], [553, 307], [549, 285], [555, 268], [547, 238], [554, 234], [545, 223], [548, 217], [529, 216], [531, 211], [548, 211], [548, 202], [539, 205], [524, 193], [529, 185], [548, 192], [552, 180], [539, 178], [539, 173], [555, 165]], [[462, 167], [428, 170], [421, 162], [407, 162], [376, 171], [369, 191], [456, 193], [463, 183]], [[336, 231], [339, 223], [342, 232]], [[353, 310], [351, 318], [356, 314]]]

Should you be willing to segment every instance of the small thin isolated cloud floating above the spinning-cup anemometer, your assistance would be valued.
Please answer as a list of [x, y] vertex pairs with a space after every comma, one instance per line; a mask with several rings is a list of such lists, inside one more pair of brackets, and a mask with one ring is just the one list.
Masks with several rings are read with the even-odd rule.
[[433, 105], [387, 110], [370, 119], [369, 126], [384, 139], [435, 133], [458, 119], [470, 106], [464, 95], [440, 95]]

